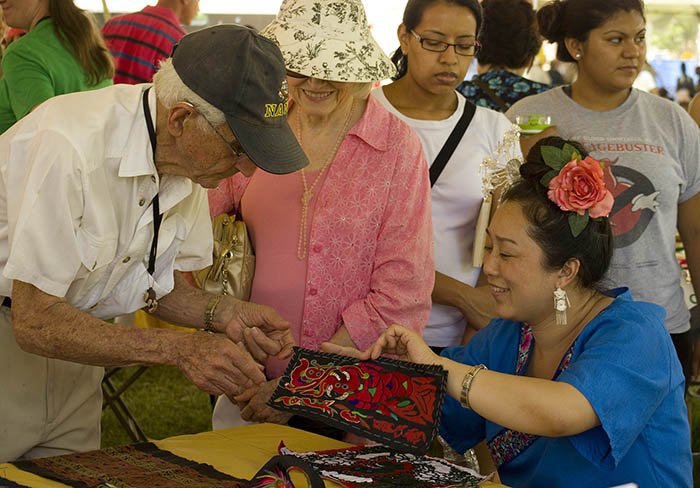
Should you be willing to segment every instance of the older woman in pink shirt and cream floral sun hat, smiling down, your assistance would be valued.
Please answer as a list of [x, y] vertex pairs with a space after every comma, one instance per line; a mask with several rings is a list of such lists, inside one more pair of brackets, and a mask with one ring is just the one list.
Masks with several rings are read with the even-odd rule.
[[[311, 349], [366, 348], [397, 322], [422, 333], [434, 273], [427, 165], [415, 133], [369, 97], [394, 67], [362, 4], [285, 0], [262, 34], [282, 50], [288, 118], [310, 164], [210, 192], [212, 215], [238, 210], [248, 225], [251, 301], [273, 306]], [[265, 405], [285, 363], [266, 366], [270, 381], [235, 400], [243, 419], [286, 422]], [[222, 397], [214, 427], [233, 425], [236, 411]]]

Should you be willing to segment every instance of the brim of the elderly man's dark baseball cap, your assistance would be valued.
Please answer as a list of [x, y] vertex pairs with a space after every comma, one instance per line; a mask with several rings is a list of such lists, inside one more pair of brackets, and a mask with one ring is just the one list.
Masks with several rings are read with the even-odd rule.
[[248, 158], [263, 171], [282, 175], [299, 171], [309, 164], [288, 124], [263, 128], [228, 115], [226, 122]]

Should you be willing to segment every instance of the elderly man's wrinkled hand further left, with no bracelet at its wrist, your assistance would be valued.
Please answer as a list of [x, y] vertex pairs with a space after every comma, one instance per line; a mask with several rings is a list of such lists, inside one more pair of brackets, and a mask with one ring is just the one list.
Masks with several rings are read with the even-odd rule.
[[200, 390], [212, 395], [237, 395], [264, 383], [263, 366], [245, 347], [220, 334], [183, 333], [176, 366]]

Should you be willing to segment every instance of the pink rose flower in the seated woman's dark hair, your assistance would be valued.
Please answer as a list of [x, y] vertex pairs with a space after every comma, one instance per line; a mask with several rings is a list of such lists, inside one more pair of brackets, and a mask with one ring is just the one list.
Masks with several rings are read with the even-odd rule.
[[614, 198], [605, 187], [603, 168], [599, 161], [588, 156], [583, 160], [572, 159], [559, 174], [549, 181], [547, 196], [565, 212], [591, 218], [607, 217]]

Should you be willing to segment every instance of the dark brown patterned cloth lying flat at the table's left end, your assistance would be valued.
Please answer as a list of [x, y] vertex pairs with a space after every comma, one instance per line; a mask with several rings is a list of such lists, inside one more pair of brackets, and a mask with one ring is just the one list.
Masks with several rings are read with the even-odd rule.
[[150, 442], [12, 464], [23, 471], [77, 488], [239, 488], [247, 484], [247, 480], [163, 451]]

